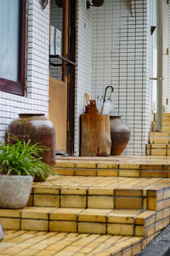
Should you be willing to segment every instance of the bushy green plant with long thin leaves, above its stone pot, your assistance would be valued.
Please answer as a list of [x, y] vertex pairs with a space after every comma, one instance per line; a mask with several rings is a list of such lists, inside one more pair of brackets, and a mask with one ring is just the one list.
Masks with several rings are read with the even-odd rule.
[[54, 170], [42, 162], [40, 154], [48, 148], [14, 138], [16, 143], [0, 143], [0, 174], [28, 175], [45, 180]]

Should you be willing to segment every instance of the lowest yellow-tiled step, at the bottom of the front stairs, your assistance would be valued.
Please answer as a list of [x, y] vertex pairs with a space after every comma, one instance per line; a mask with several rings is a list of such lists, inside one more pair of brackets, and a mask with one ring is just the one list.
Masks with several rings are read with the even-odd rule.
[[5, 230], [5, 237], [0, 242], [0, 255], [137, 255], [156, 235], [142, 239], [130, 236]]

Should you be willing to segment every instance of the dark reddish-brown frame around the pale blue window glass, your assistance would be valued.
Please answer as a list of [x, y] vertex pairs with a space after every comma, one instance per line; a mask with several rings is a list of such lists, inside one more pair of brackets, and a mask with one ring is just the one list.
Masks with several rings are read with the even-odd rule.
[[25, 95], [26, 0], [20, 0], [18, 82], [0, 78], [0, 91]]

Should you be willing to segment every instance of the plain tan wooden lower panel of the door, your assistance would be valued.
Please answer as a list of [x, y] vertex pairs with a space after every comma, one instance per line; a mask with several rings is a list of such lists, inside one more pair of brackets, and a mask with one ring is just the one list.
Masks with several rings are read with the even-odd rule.
[[55, 128], [56, 152], [66, 151], [67, 84], [49, 78], [49, 119]]

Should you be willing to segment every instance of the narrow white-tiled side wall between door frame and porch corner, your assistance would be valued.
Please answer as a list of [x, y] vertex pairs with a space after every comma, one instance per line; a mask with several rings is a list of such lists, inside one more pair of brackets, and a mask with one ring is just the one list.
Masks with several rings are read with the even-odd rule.
[[86, 9], [85, 0], [77, 0], [77, 49], [75, 91], [75, 154], [79, 154], [80, 114], [84, 105], [84, 93], [91, 97], [93, 9]]

